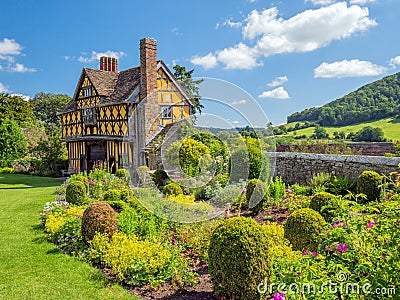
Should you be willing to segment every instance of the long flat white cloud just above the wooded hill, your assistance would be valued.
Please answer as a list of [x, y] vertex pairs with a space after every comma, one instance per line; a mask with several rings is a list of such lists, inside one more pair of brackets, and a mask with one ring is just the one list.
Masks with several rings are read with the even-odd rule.
[[358, 59], [342, 60], [333, 63], [324, 62], [314, 69], [315, 78], [341, 78], [377, 76], [386, 72], [386, 68], [369, 61]]

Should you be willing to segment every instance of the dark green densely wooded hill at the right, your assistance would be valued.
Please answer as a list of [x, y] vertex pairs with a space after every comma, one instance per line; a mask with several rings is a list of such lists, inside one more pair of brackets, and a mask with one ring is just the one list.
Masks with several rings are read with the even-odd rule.
[[345, 126], [371, 122], [400, 113], [400, 72], [364, 85], [350, 94], [296, 112], [287, 122], [315, 122], [322, 126]]

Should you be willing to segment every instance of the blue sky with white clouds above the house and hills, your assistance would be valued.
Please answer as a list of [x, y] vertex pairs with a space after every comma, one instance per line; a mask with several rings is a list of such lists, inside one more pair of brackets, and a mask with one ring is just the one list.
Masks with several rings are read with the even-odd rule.
[[143, 37], [157, 40], [170, 67], [244, 89], [274, 124], [400, 71], [399, 0], [3, 0], [1, 8], [0, 92], [10, 94], [72, 96], [101, 54], [118, 57], [120, 70], [137, 66]]

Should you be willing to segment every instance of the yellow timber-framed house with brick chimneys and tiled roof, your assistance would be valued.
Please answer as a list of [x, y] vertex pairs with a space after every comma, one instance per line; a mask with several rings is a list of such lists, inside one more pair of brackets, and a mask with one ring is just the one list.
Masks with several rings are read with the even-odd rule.
[[116, 58], [101, 57], [99, 70], [82, 70], [72, 100], [59, 113], [68, 171], [148, 165], [146, 147], [168, 124], [189, 117], [192, 106], [157, 60], [154, 39], [140, 40], [140, 66], [119, 72]]

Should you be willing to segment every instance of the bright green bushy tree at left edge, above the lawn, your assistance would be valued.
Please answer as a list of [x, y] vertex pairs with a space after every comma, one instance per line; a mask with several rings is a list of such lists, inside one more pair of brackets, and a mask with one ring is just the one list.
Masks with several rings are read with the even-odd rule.
[[14, 120], [6, 119], [0, 124], [0, 164], [10, 166], [12, 161], [26, 155], [26, 140]]

